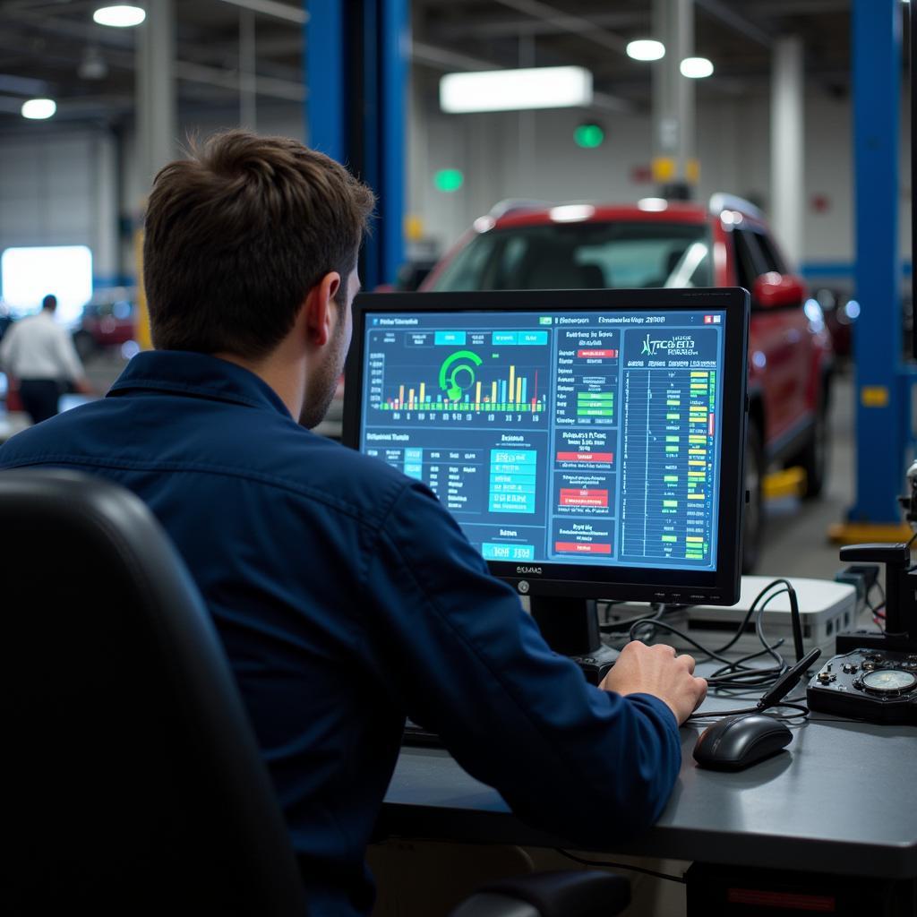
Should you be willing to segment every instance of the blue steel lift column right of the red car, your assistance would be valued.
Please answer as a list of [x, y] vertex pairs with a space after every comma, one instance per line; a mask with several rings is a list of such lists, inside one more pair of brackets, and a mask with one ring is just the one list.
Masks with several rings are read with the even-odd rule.
[[909, 389], [901, 366], [898, 239], [900, 3], [854, 0], [856, 504], [851, 523], [897, 524]]

